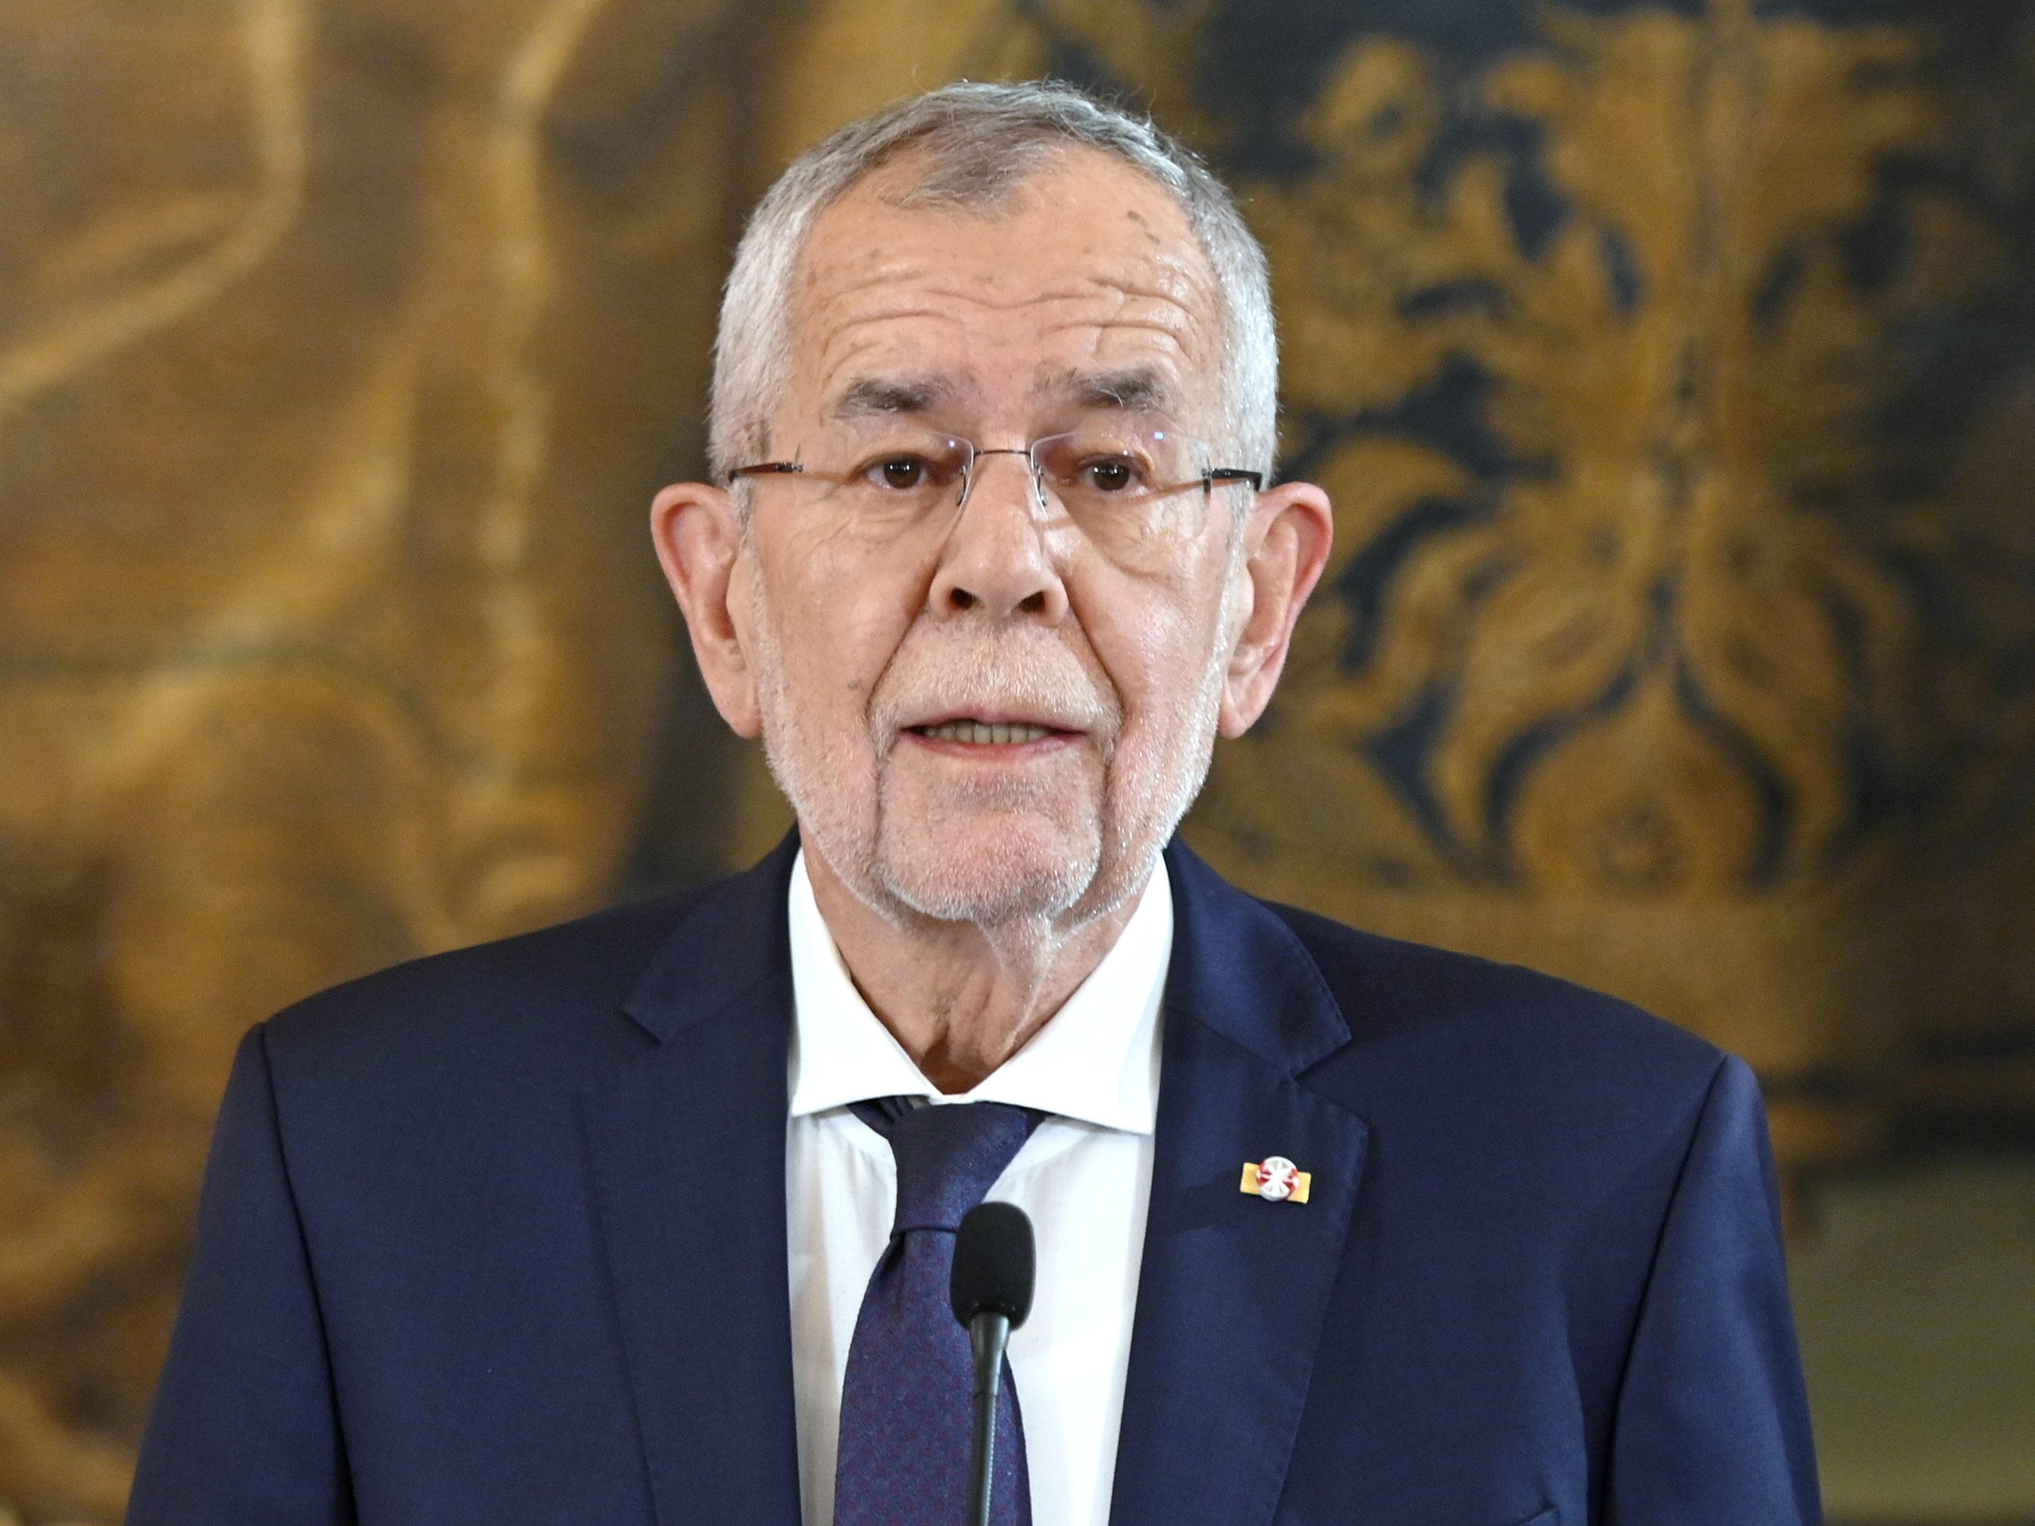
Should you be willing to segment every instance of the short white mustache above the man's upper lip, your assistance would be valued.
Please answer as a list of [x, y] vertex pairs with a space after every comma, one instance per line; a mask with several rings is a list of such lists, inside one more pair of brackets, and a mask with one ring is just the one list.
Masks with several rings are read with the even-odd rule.
[[885, 753], [908, 726], [975, 714], [1083, 730], [1105, 745], [1121, 720], [1115, 696], [1097, 692], [1074, 653], [1058, 641], [967, 637], [906, 643], [877, 682], [869, 726], [877, 751]]

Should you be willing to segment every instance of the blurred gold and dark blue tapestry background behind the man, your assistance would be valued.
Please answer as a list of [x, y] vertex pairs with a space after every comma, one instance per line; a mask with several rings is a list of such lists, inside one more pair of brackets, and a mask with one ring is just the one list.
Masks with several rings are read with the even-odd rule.
[[1190, 838], [1746, 1054], [1836, 1520], [2035, 1520], [2035, 0], [8, 0], [0, 1520], [240, 1032], [786, 824], [645, 535], [753, 197], [1058, 73], [1266, 240], [1335, 564]]

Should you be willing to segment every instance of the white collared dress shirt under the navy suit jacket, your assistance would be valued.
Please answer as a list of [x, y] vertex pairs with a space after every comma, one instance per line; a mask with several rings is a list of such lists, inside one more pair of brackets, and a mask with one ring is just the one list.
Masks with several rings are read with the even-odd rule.
[[1050, 1115], [989, 1188], [1038, 1231], [1038, 1292], [1032, 1318], [1011, 1333], [1011, 1384], [1024, 1406], [1032, 1520], [1103, 1526], [1152, 1190], [1158, 1009], [1172, 956], [1164, 867], [1066, 1005], [965, 1097], [942, 1097], [869, 1011], [820, 918], [804, 855], [792, 867], [790, 912], [786, 1194], [804, 1526], [834, 1520], [840, 1382], [897, 1205], [889, 1143], [847, 1107], [867, 1097], [1013, 1103]]

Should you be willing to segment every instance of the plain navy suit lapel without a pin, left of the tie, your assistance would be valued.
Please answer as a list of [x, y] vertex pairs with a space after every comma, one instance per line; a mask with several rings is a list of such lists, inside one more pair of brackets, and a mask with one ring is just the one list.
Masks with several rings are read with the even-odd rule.
[[627, 1003], [643, 1052], [584, 1099], [663, 1526], [800, 1520], [783, 1202], [794, 850], [680, 924]]

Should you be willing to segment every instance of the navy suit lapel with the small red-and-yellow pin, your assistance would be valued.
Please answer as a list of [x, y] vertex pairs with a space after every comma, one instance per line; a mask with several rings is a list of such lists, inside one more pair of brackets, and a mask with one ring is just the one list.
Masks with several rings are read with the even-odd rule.
[[[1278, 1508], [1368, 1129], [1298, 1072], [1349, 1025], [1298, 938], [1180, 846], [1115, 1526], [1260, 1526]], [[1309, 1200], [1239, 1190], [1286, 1156]]]

